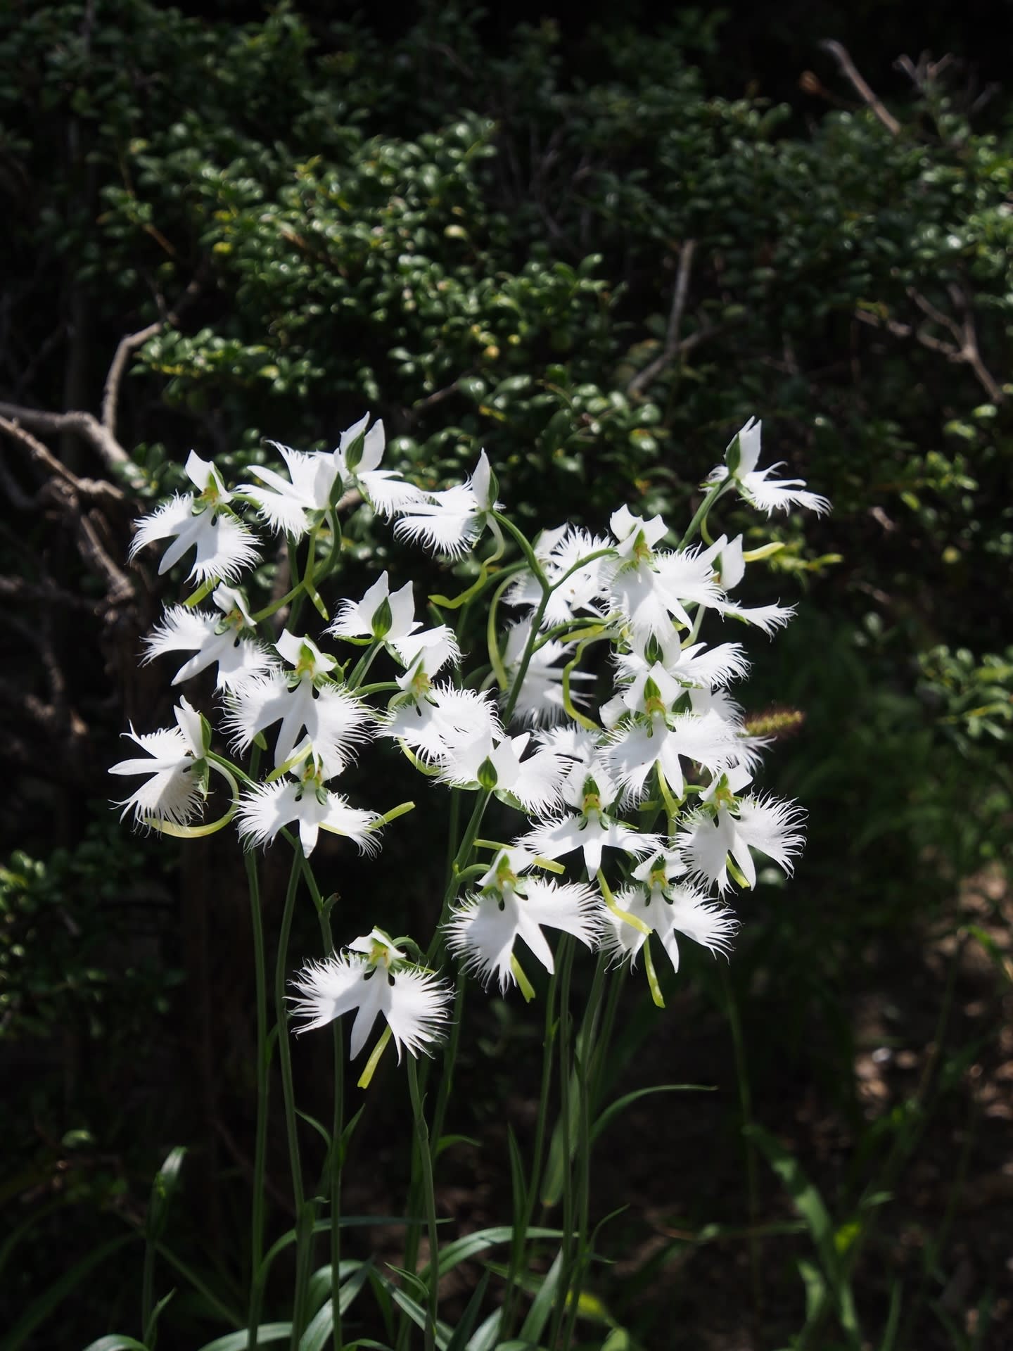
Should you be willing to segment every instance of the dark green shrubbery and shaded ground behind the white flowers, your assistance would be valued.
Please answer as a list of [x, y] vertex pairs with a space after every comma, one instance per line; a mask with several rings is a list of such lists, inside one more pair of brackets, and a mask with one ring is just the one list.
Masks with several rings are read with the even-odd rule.
[[[136, 670], [158, 585], [122, 569], [134, 504], [177, 486], [190, 446], [228, 474], [263, 436], [330, 446], [366, 408], [427, 485], [485, 446], [532, 527], [601, 527], [620, 501], [679, 519], [751, 413], [832, 499], [805, 536], [778, 524], [762, 589], [800, 615], [769, 654], [752, 643], [754, 711], [806, 715], [771, 754], [773, 786], [809, 811], [806, 858], [789, 888], [759, 888], [727, 974], [681, 975], [673, 1025], [628, 1011], [625, 1061], [654, 1047], [720, 1092], [690, 1124], [674, 1100], [628, 1117], [627, 1256], [596, 1288], [644, 1346], [850, 1346], [852, 1289], [874, 1346], [1001, 1339], [1001, 1233], [975, 1216], [1002, 1192], [1013, 1112], [1013, 119], [981, 30], [933, 65], [914, 53], [966, 35], [956, 7], [910, 35], [893, 15], [871, 34], [859, 7], [851, 54], [882, 81], [863, 95], [819, 46], [850, 39], [829, 8], [752, 49], [719, 12], [666, 28], [216, 14], [20, 4], [0, 30], [0, 413], [66, 471], [4, 438], [0, 1200], [16, 1244], [0, 1263], [16, 1275], [0, 1346], [73, 1347], [120, 1319], [132, 1259], [58, 1312], [53, 1282], [96, 1227], [112, 1242], [140, 1223], [177, 1142], [193, 1147], [178, 1248], [222, 1298], [238, 1279], [242, 896], [212, 847], [181, 865], [109, 821], [124, 711], [145, 728], [166, 712]], [[130, 461], [32, 422], [65, 411], [96, 415]], [[354, 543], [397, 566], [385, 532]], [[430, 909], [442, 859], [424, 813], [401, 824], [405, 905]], [[492, 1005], [462, 1131], [496, 1142], [523, 1021]], [[370, 1111], [382, 1140], [396, 1112]], [[683, 1166], [701, 1125], [709, 1182]], [[956, 1173], [939, 1162], [955, 1147]], [[677, 1174], [650, 1204], [640, 1155]], [[454, 1165], [459, 1220], [494, 1212], [494, 1159]], [[389, 1186], [363, 1183], [363, 1208], [397, 1213]], [[193, 1344], [203, 1317], [180, 1294], [163, 1346]]]

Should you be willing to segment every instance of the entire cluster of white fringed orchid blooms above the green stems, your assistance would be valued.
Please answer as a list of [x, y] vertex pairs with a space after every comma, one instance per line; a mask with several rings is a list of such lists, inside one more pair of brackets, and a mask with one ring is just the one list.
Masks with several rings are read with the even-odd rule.
[[[186, 473], [197, 492], [177, 494], [139, 521], [134, 553], [170, 540], [165, 571], [193, 549], [189, 577], [201, 584], [186, 604], [166, 608], [145, 661], [189, 654], [174, 685], [216, 666], [220, 730], [234, 757], [254, 743], [267, 746], [265, 734], [277, 732], [270, 771], [251, 780], [211, 750], [211, 724], [184, 698], [174, 728], [131, 730], [149, 758], [112, 767], [145, 778], [120, 804], [124, 815], [186, 834], [216, 770], [234, 789], [232, 809], [192, 832], [235, 819], [247, 847], [294, 831], [308, 857], [324, 830], [374, 852], [381, 827], [397, 811], [385, 817], [355, 807], [334, 782], [363, 746], [388, 740], [428, 778], [478, 794], [471, 839], [493, 796], [523, 817], [512, 843], [478, 842], [492, 850], [479, 867], [470, 855], [458, 859], [459, 871], [469, 869], [475, 881], [443, 916], [442, 942], [485, 984], [520, 984], [529, 993], [519, 948], [523, 943], [552, 971], [546, 929], [604, 947], [615, 962], [632, 965], [643, 952], [648, 971], [651, 934], [674, 969], [678, 936], [725, 951], [736, 928], [728, 890], [755, 884], [754, 851], [791, 870], [802, 843], [801, 812], [752, 789], [764, 742], [750, 732], [729, 693], [748, 669], [742, 644], [709, 647], [698, 635], [708, 612], [770, 634], [791, 608], [748, 608], [731, 597], [750, 562], [742, 538], [669, 547], [666, 521], [621, 507], [608, 535], [562, 526], [524, 542], [525, 566], [513, 566], [496, 590], [517, 617], [500, 634], [490, 616], [489, 676], [481, 688], [459, 674], [454, 631], [423, 628], [412, 584], [392, 590], [386, 571], [359, 600], [342, 600], [323, 635], [286, 628], [267, 640], [262, 630], [278, 607], [251, 613], [236, 585], [258, 557], [243, 508], [254, 526], [285, 534], [293, 549], [309, 536], [307, 577], [317, 542], [340, 543], [339, 500], [361, 496], [394, 517], [396, 536], [448, 558], [474, 550], [488, 528], [497, 547], [479, 584], [486, 576], [490, 585], [497, 581], [492, 565], [505, 546], [501, 523], [509, 523], [498, 513], [485, 454], [466, 482], [424, 492], [380, 469], [382, 423], [369, 430], [367, 423], [348, 428], [332, 453], [277, 446], [288, 477], [257, 467], [257, 482], [231, 492], [213, 465], [192, 454]], [[737, 489], [767, 513], [791, 505], [827, 509], [798, 480], [756, 470], [759, 436], [754, 422], [739, 432], [704, 485], [706, 501]], [[509, 534], [523, 539], [516, 527]], [[332, 547], [330, 558], [338, 553]], [[315, 594], [308, 584], [307, 593]], [[208, 594], [215, 608], [199, 608]], [[324, 639], [346, 650], [365, 647], [366, 655], [350, 673], [347, 653], [332, 655], [319, 646]], [[365, 673], [384, 651], [394, 676], [363, 692]], [[596, 703], [602, 684], [605, 697]], [[377, 694], [385, 703], [370, 703]], [[447, 1019], [447, 985], [409, 958], [411, 940], [392, 940], [371, 915], [366, 923], [370, 932], [340, 957], [303, 971], [296, 1012], [305, 1027], [319, 1027], [357, 1009], [353, 1055], [382, 1013], [398, 1054], [402, 1047], [417, 1054]]]

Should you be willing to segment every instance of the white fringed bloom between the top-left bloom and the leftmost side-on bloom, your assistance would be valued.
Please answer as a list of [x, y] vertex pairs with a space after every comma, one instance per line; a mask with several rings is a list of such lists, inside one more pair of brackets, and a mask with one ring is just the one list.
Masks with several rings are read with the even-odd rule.
[[145, 663], [163, 653], [193, 653], [173, 677], [173, 685], [192, 680], [217, 662], [215, 688], [235, 689], [271, 665], [266, 648], [242, 636], [243, 630], [255, 628], [255, 624], [240, 592], [222, 585], [215, 588], [211, 598], [222, 613], [169, 605], [150, 638], [145, 639]]

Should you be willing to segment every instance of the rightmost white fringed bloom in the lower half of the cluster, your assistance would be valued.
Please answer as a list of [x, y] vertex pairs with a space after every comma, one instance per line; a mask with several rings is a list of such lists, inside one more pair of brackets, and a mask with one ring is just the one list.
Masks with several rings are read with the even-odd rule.
[[[798, 827], [804, 812], [797, 802], [775, 797], [735, 798], [719, 792], [716, 811], [701, 809], [686, 821], [675, 847], [686, 867], [701, 882], [716, 885], [724, 894], [731, 885], [729, 859], [746, 886], [756, 885], [756, 866], [750, 848], [773, 858], [786, 873], [793, 869], [804, 836]], [[729, 805], [731, 802], [731, 805]]]

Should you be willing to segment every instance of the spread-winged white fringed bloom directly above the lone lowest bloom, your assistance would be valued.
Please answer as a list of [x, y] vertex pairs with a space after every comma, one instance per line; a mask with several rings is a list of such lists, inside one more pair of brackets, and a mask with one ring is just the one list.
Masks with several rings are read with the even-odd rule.
[[293, 778], [259, 784], [244, 793], [238, 812], [239, 834], [251, 844], [269, 844], [285, 825], [298, 823], [303, 852], [309, 857], [321, 830], [344, 835], [362, 854], [380, 848], [378, 812], [350, 807], [348, 798], [323, 786], [323, 774], [309, 762]]

